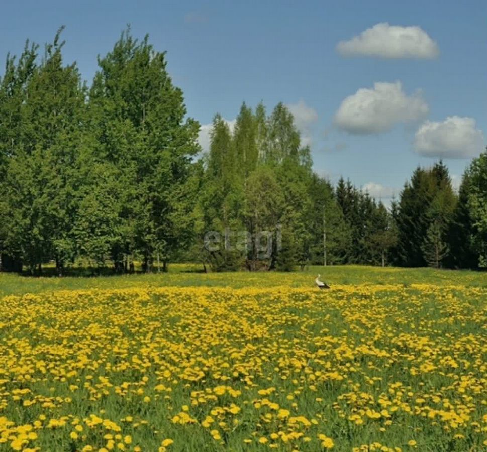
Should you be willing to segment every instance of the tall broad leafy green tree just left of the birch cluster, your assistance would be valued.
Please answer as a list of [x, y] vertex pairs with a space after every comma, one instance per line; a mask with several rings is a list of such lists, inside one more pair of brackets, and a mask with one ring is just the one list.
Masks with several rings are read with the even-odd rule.
[[199, 126], [184, 119], [182, 92], [167, 73], [165, 53], [154, 51], [147, 36], [139, 43], [127, 30], [99, 65], [90, 90], [93, 130], [124, 182], [123, 235], [114, 240], [112, 258], [120, 266], [140, 254], [149, 271], [156, 252], [167, 261], [192, 230], [186, 215]]

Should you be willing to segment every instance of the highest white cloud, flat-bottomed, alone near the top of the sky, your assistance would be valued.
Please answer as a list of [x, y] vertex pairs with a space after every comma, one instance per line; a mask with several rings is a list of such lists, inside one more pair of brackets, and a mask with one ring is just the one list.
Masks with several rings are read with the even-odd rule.
[[387, 22], [374, 25], [349, 41], [340, 41], [337, 51], [343, 56], [379, 58], [436, 58], [439, 49], [421, 27], [402, 27]]

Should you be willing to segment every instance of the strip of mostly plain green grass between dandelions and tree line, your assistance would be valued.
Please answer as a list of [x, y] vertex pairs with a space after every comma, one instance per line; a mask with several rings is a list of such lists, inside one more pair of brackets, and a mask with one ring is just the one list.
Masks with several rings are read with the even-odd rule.
[[0, 297], [24, 293], [76, 289], [113, 289], [135, 286], [223, 286], [223, 287], [291, 287], [313, 286], [318, 273], [329, 284], [435, 284], [487, 287], [487, 273], [467, 270], [435, 270], [430, 268], [396, 268], [368, 266], [310, 266], [305, 271], [197, 273], [201, 268], [191, 264], [172, 264], [168, 273], [114, 275], [99, 277], [32, 277], [0, 273]]

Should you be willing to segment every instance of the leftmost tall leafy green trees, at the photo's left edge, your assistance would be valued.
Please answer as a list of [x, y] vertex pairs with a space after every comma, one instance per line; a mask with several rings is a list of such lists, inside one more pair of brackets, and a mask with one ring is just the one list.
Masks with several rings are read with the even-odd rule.
[[[13, 125], [17, 141], [11, 137], [2, 190], [5, 208], [11, 212], [5, 219], [5, 246], [31, 272], [52, 257], [62, 273], [63, 262], [75, 254], [71, 227], [84, 89], [76, 66], [63, 66], [61, 31], [46, 45], [39, 65], [34, 64], [36, 47], [26, 46], [19, 65], [13, 67], [11, 60], [7, 69], [7, 75], [18, 74], [24, 87], [14, 89], [4, 105], [8, 109], [14, 105], [18, 112], [18, 123]], [[2, 141], [5, 149], [8, 141]]]

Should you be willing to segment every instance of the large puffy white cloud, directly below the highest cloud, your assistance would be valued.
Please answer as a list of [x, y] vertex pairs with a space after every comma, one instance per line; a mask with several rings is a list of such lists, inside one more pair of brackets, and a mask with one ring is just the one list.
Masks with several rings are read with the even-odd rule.
[[377, 82], [345, 98], [335, 124], [352, 134], [373, 134], [391, 130], [397, 123], [417, 121], [428, 111], [420, 91], [407, 96], [400, 81]]

